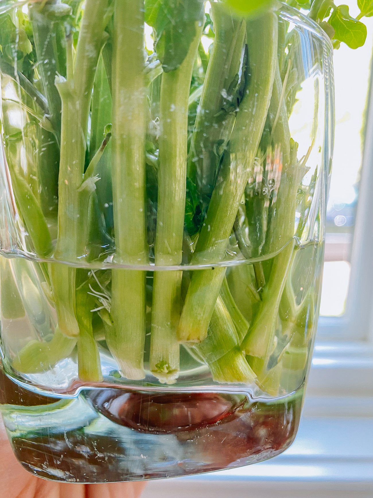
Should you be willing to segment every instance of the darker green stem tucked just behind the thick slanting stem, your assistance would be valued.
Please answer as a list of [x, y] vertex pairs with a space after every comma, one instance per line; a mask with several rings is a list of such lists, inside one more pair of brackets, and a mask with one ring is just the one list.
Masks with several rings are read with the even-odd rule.
[[221, 112], [223, 95], [238, 73], [246, 25], [226, 6], [213, 2], [214, 44], [203, 82], [202, 95], [191, 138], [188, 177], [197, 186], [202, 202], [210, 198], [220, 154], [216, 143], [229, 140], [235, 122], [234, 113]]

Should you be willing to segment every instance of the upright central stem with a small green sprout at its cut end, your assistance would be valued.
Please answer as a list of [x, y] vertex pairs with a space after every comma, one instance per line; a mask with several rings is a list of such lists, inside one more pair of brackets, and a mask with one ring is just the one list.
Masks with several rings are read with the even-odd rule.
[[[163, 73], [160, 101], [156, 266], [182, 263], [187, 180], [187, 115], [190, 81], [202, 26], [196, 26], [187, 57], [180, 67]], [[182, 271], [155, 272], [150, 370], [161, 382], [179, 374], [176, 327], [180, 317]]]

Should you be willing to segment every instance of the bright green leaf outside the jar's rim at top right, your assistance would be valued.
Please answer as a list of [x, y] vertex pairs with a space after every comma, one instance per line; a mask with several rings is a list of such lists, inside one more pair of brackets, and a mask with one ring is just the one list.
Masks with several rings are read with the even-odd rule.
[[339, 5], [333, 10], [329, 24], [334, 28], [334, 38], [343, 41], [350, 48], [362, 47], [367, 38], [366, 26], [351, 17], [348, 5]]

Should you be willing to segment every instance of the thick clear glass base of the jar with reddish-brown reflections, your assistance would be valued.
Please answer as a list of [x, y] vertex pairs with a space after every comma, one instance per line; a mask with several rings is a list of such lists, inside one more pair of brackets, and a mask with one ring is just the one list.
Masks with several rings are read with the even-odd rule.
[[245, 394], [89, 389], [56, 400], [3, 383], [4, 424], [21, 465], [44, 479], [109, 483], [186, 476], [284, 451], [302, 389], [276, 401]]

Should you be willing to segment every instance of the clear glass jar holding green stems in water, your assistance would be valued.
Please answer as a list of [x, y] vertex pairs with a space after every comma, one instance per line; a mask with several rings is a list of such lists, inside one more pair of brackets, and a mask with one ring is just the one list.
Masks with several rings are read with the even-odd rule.
[[310, 367], [330, 41], [284, 4], [143, 7], [0, 2], [1, 410], [57, 481], [276, 456]]

